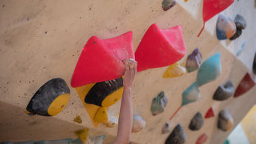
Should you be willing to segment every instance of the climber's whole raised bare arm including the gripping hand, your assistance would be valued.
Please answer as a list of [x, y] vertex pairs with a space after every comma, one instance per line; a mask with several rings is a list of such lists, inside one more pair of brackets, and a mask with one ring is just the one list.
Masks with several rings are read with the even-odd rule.
[[118, 119], [118, 131], [114, 144], [127, 144], [130, 142], [130, 134], [132, 131], [132, 98], [130, 96], [134, 76], [137, 73], [137, 61], [134, 59], [125, 59], [123, 61], [126, 66], [124, 72], [124, 93], [122, 96], [120, 115]]

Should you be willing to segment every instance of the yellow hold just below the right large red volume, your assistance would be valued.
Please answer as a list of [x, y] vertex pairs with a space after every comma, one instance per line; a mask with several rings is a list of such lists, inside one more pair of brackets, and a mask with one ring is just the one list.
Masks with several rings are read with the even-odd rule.
[[177, 76], [182, 76], [185, 73], [186, 69], [180, 66], [180, 63], [177, 62], [169, 66], [169, 68], [167, 68], [162, 78], [173, 78]]

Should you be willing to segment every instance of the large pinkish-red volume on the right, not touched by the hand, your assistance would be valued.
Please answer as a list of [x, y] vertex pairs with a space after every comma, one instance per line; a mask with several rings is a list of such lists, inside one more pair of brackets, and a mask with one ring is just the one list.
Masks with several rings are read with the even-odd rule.
[[159, 29], [156, 24], [150, 26], [143, 36], [135, 58], [138, 72], [149, 68], [169, 66], [184, 57], [186, 46], [182, 26], [171, 29]]

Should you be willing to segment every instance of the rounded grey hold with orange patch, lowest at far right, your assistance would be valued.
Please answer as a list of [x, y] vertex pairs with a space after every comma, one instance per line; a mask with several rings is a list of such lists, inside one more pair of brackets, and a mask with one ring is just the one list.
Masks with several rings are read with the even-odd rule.
[[223, 131], [228, 131], [233, 126], [233, 118], [225, 109], [218, 113], [218, 128]]

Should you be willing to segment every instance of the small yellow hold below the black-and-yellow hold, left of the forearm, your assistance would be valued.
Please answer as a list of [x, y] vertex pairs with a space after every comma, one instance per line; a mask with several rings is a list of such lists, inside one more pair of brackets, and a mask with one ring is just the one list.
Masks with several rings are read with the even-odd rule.
[[94, 116], [94, 121], [104, 124], [109, 123], [109, 115], [106, 107], [100, 107], [98, 109], [98, 112]]

